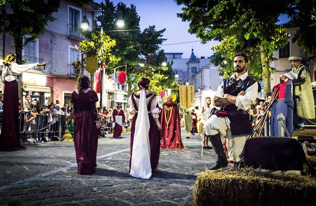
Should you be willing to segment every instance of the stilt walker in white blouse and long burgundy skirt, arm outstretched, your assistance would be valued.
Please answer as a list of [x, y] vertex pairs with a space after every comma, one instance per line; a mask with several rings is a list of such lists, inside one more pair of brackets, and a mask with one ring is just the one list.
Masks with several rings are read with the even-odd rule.
[[[9, 60], [8, 57], [11, 59]], [[2, 71], [2, 82], [4, 83], [4, 101], [2, 130], [0, 137], [0, 151], [18, 151], [25, 149], [20, 145], [19, 125], [19, 88], [17, 75], [37, 66], [38, 63], [18, 65], [14, 61], [15, 54], [7, 56]]]

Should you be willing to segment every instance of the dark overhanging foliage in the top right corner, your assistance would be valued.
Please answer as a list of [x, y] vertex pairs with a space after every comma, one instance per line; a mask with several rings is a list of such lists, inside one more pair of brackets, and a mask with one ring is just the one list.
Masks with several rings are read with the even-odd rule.
[[[293, 0], [287, 14], [291, 18], [289, 26], [299, 27], [292, 42], [297, 44], [310, 56], [315, 56], [316, 49], [316, 0]], [[312, 10], [313, 9], [313, 10]]]

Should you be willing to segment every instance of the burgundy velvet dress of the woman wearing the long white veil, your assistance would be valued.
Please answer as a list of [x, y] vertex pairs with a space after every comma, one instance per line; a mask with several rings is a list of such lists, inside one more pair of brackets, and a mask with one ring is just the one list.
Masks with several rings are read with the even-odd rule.
[[[153, 101], [155, 95], [152, 93], [149, 93], [146, 95], [146, 99], [150, 98], [149, 102], [147, 103], [147, 111], [151, 112], [151, 102]], [[135, 98], [139, 99], [140, 96], [138, 96], [136, 93], [131, 94], [131, 100], [135, 106], [136, 109], [136, 114], [133, 118], [133, 122], [131, 125], [131, 143], [130, 143], [130, 152], [131, 152], [131, 157], [130, 157], [130, 171], [131, 171], [131, 161], [132, 161], [132, 151], [133, 151], [133, 140], [134, 140], [134, 134], [135, 134], [135, 125], [137, 121], [137, 116], [138, 116], [138, 107], [135, 102]], [[151, 165], [151, 170], [155, 171], [158, 166], [159, 162], [159, 156], [160, 156], [160, 135], [158, 136], [158, 129], [157, 125], [155, 123], [155, 119], [151, 114], [148, 114], [149, 116], [149, 145], [150, 145], [150, 165]]]

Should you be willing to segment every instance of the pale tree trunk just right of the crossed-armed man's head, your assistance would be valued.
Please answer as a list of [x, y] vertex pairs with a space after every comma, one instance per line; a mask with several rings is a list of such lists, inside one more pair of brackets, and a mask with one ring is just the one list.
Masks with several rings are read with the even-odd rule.
[[268, 92], [271, 92], [271, 84], [270, 84], [270, 77], [271, 72], [269, 69], [269, 60], [266, 51], [264, 50], [264, 46], [260, 45], [260, 57], [261, 57], [261, 64], [262, 64], [262, 81], [263, 81], [263, 92], [264, 95]]

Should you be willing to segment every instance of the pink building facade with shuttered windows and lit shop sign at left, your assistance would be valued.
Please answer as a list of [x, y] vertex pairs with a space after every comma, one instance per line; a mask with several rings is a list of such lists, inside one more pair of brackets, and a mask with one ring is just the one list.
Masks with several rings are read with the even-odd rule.
[[[75, 4], [61, 1], [58, 12], [53, 13], [53, 17], [57, 20], [48, 22], [46, 31], [23, 48], [22, 60], [26, 64], [46, 62], [45, 68], [35, 66], [22, 74], [24, 92], [31, 95], [31, 100], [36, 98], [40, 100], [41, 105], [47, 105], [58, 99], [60, 104], [68, 103], [71, 106], [71, 94], [77, 86], [71, 63], [81, 59], [82, 54], [75, 45], [79, 45], [84, 39], [78, 29], [83, 15], [86, 14], [89, 22], [92, 22], [94, 18], [92, 11], [98, 8], [99, 4], [96, 3], [89, 3], [85, 8], [79, 8]], [[90, 30], [92, 30], [91, 25]], [[25, 36], [24, 39], [27, 37]], [[1, 43], [3, 43], [3, 52]], [[13, 37], [2, 34], [0, 57], [3, 59], [10, 52], [15, 53]], [[88, 72], [84, 74], [88, 76]]]

